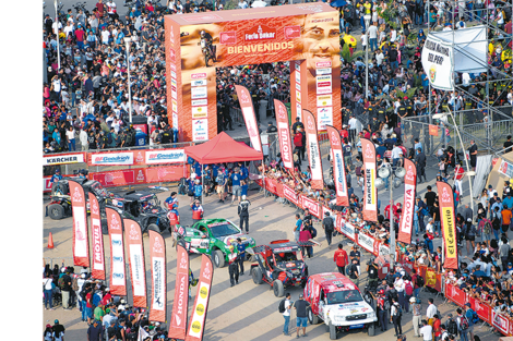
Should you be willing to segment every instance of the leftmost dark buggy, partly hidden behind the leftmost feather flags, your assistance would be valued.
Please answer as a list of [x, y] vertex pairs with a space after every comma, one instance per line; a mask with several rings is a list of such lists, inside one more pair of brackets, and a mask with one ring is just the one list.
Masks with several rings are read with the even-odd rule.
[[51, 202], [47, 205], [47, 214], [53, 220], [59, 220], [65, 217], [71, 217], [71, 198], [70, 185], [68, 180], [76, 181], [84, 187], [85, 199], [87, 202], [87, 212], [90, 211], [90, 195], [92, 192], [98, 198], [100, 210], [105, 210], [105, 199], [109, 197], [110, 193], [96, 180], [87, 180], [85, 178], [64, 178], [51, 185]]

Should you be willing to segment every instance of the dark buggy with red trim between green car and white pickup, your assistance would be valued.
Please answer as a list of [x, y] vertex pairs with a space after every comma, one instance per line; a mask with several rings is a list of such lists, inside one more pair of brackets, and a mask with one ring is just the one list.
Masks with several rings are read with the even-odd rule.
[[302, 259], [299, 244], [278, 240], [269, 245], [255, 246], [253, 252], [255, 263], [251, 265], [251, 276], [255, 284], [271, 284], [276, 297], [282, 297], [287, 287], [305, 287], [308, 266]]

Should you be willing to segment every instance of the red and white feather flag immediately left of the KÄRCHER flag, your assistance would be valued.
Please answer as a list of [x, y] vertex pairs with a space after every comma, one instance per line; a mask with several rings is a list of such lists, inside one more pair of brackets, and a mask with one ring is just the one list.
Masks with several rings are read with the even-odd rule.
[[336, 205], [349, 206], [347, 193], [346, 167], [344, 165], [344, 153], [342, 150], [341, 134], [333, 125], [326, 125], [330, 145], [332, 147], [333, 180], [336, 188]]

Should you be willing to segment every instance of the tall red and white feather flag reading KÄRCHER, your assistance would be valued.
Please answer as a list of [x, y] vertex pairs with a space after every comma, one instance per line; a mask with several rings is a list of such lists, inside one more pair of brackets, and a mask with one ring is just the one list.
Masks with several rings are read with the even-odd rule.
[[363, 155], [363, 220], [378, 221], [378, 188], [375, 187], [375, 147], [374, 144], [361, 138]]

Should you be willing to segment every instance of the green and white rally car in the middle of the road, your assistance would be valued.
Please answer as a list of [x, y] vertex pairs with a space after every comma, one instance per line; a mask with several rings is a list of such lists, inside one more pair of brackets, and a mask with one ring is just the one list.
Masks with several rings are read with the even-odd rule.
[[252, 254], [254, 240], [227, 219], [203, 219], [192, 228], [177, 227], [178, 243], [186, 246], [190, 253], [212, 255], [213, 263], [222, 268], [228, 261], [228, 255], [234, 251], [237, 238], [246, 245], [246, 256]]

